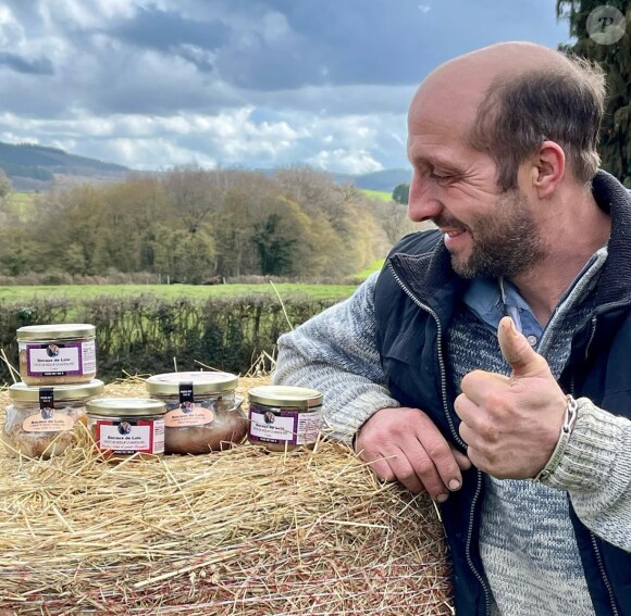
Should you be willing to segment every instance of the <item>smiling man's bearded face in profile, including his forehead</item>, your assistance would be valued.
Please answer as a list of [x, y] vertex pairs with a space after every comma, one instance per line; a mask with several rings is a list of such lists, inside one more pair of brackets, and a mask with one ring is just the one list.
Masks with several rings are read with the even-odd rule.
[[473, 97], [454, 91], [453, 80], [419, 89], [408, 118], [409, 217], [443, 231], [460, 276], [515, 278], [537, 264], [546, 247], [529, 202], [528, 169], [520, 188], [502, 191], [495, 161], [469, 144], [475, 105]]

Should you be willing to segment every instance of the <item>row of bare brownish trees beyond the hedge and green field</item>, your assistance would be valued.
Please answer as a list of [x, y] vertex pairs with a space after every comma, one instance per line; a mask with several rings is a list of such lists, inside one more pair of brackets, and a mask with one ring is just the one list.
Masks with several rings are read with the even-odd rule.
[[147, 272], [199, 284], [249, 275], [339, 278], [412, 227], [406, 209], [306, 166], [273, 177], [174, 168], [0, 203], [0, 274]]

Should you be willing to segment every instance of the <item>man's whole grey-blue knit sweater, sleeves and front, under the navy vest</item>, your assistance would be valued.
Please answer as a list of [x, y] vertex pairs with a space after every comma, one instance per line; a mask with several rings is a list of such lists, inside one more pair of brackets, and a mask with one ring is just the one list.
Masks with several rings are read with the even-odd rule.
[[[323, 391], [327, 427], [346, 442], [373, 413], [399, 406], [384, 386], [376, 350], [376, 276], [371, 276], [350, 299], [279, 341], [274, 382]], [[584, 296], [578, 293], [559, 306], [561, 317], [550, 322], [540, 343], [540, 352], [556, 376], [567, 360], [572, 331], [589, 317]], [[461, 351], [471, 347], [472, 336], [479, 344], [475, 361]], [[496, 338], [466, 307], [456, 315], [447, 344], [455, 385], [472, 368], [508, 370]], [[484, 365], [480, 365], [481, 357]], [[569, 521], [568, 495], [585, 526], [631, 551], [631, 422], [586, 399], [580, 399], [579, 404], [569, 447], [545, 485], [487, 477], [481, 554], [496, 600], [495, 613], [594, 613]]]

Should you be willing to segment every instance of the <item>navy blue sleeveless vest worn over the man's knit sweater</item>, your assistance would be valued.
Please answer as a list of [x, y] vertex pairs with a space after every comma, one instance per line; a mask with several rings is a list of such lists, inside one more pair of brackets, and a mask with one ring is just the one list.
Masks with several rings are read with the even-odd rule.
[[[611, 215], [608, 259], [596, 289], [592, 320], [577, 332], [559, 379], [566, 392], [631, 418], [631, 198], [610, 175], [593, 180], [598, 205]], [[376, 284], [378, 345], [392, 395], [422, 408], [447, 440], [458, 433], [445, 356], [445, 329], [466, 282], [451, 269], [437, 230], [412, 234], [391, 253]], [[479, 551], [485, 476], [465, 473], [462, 488], [443, 505], [459, 616], [485, 616], [491, 593]], [[631, 554], [611, 545], [570, 515], [596, 614], [631, 616]], [[568, 598], [571, 603], [571, 598]]]

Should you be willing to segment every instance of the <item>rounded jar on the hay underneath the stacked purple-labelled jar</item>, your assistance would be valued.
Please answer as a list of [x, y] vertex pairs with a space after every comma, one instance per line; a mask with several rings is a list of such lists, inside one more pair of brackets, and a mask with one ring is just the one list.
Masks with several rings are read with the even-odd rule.
[[75, 423], [86, 420], [86, 404], [101, 395], [103, 389], [97, 379], [55, 387], [13, 384], [2, 428], [5, 448], [14, 455], [59, 455], [72, 443]]

